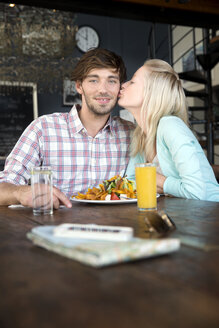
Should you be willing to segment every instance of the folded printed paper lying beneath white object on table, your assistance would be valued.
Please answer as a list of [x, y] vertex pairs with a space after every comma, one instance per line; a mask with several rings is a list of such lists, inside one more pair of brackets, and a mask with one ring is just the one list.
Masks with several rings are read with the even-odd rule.
[[180, 248], [176, 238], [103, 241], [59, 237], [54, 234], [56, 227], [33, 228], [27, 237], [37, 246], [96, 268], [168, 254]]

